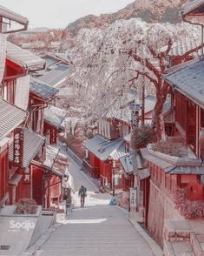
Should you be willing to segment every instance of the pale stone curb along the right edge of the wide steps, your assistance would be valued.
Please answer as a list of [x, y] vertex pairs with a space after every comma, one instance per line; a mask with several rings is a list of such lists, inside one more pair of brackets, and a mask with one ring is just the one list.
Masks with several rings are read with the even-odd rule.
[[155, 256], [163, 256], [163, 252], [161, 250], [161, 247], [158, 246], [154, 239], [152, 239], [148, 233], [138, 224], [138, 222], [134, 219], [131, 219], [129, 217], [129, 212], [122, 207], [116, 205], [117, 208], [119, 208], [122, 212], [125, 212], [128, 216], [128, 221], [132, 224], [132, 226], [135, 227], [135, 230], [140, 233], [141, 237], [145, 239], [148, 246], [151, 248]]

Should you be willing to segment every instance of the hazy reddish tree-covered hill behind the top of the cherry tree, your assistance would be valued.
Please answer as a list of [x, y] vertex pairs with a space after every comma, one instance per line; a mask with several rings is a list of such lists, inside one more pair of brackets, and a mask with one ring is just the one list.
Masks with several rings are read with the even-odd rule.
[[111, 14], [100, 16], [88, 15], [81, 17], [67, 26], [70, 36], [75, 36], [82, 28], [101, 27], [103, 24], [112, 24], [118, 19], [130, 19], [141, 17], [148, 23], [169, 22], [172, 24], [181, 22], [179, 10], [184, 3], [189, 0], [136, 0], [128, 4], [124, 9]]

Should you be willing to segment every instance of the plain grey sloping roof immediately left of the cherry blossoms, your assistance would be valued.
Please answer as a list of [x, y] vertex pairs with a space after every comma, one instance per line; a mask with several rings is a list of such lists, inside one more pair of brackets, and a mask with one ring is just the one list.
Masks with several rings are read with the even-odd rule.
[[39, 80], [53, 87], [57, 87], [63, 84], [63, 82], [68, 77], [68, 75], [69, 75], [69, 70], [68, 71], [52, 70], [52, 71], [46, 72], [42, 77], [39, 77]]

